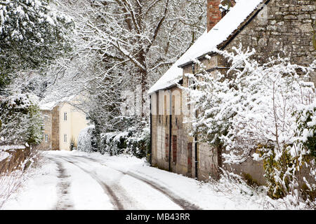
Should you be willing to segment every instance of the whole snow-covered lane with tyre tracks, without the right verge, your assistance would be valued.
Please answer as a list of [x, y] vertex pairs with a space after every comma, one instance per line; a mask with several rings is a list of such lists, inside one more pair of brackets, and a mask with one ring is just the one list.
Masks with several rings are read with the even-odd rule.
[[159, 184], [87, 155], [43, 152], [44, 165], [2, 209], [197, 209]]

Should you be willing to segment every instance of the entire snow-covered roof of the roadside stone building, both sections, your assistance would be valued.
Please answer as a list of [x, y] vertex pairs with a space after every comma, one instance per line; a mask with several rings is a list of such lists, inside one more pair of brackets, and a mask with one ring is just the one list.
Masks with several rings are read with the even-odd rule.
[[209, 32], [204, 32], [197, 41], [176, 61], [164, 75], [148, 90], [152, 94], [169, 88], [182, 78], [183, 70], [178, 66], [187, 64], [202, 55], [211, 52], [235, 31], [263, 0], [239, 0]]

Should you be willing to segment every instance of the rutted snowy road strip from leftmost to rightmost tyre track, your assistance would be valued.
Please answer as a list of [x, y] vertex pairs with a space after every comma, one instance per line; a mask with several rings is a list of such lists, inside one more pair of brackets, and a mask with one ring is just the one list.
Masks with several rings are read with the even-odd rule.
[[[97, 206], [94, 202], [99, 209], [199, 209], [157, 183], [98, 160], [75, 155], [47, 157], [58, 165], [56, 209], [88, 209]], [[160, 203], [152, 203], [157, 200]]]

